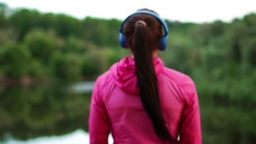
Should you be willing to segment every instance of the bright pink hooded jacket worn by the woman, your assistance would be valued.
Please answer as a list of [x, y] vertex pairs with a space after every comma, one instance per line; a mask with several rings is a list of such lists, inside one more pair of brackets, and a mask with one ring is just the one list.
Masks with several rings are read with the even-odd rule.
[[[154, 57], [162, 113], [171, 135], [179, 143], [202, 143], [200, 109], [193, 80], [164, 67]], [[89, 117], [90, 143], [108, 143], [110, 130], [115, 144], [162, 143], [139, 97], [135, 61], [121, 59], [98, 77], [92, 93]]]

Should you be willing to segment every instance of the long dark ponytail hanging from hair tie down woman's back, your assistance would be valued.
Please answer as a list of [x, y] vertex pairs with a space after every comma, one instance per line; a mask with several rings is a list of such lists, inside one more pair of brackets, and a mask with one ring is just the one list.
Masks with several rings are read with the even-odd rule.
[[147, 112], [155, 134], [164, 143], [175, 142], [168, 130], [162, 115], [158, 79], [153, 64], [153, 51], [156, 45], [152, 29], [143, 22], [136, 22], [133, 35], [131, 35], [131, 49], [135, 57], [139, 95], [144, 110]]

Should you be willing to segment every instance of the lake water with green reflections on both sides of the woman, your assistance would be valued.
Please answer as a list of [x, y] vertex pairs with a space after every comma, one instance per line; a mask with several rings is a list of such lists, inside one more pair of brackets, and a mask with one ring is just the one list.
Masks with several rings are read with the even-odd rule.
[[[71, 89], [61, 85], [0, 88], [0, 141], [23, 144], [35, 139], [42, 140], [40, 143], [62, 143], [62, 139], [74, 136], [80, 138], [69, 143], [79, 143], [75, 142], [78, 139], [87, 143], [88, 134], [83, 131], [88, 131], [93, 85], [77, 83]], [[208, 97], [207, 91], [202, 90], [199, 99], [204, 143], [255, 143], [253, 101], [238, 103], [218, 93]], [[53, 135], [56, 137], [49, 137]]]

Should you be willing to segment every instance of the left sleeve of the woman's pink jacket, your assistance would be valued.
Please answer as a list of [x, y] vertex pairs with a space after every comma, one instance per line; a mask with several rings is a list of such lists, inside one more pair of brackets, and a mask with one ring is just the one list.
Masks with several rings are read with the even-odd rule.
[[108, 143], [110, 122], [107, 116], [106, 107], [102, 100], [101, 84], [102, 82], [97, 79], [94, 91], [92, 92], [89, 116], [89, 135], [91, 144]]

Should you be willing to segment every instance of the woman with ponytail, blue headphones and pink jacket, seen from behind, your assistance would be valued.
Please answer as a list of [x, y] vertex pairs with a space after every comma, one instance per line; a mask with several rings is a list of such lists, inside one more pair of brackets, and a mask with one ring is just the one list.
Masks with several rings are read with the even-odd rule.
[[[164, 28], [164, 34], [162, 29]], [[90, 143], [202, 143], [193, 80], [164, 67], [168, 29], [152, 10], [141, 9], [120, 27], [120, 44], [132, 55], [98, 77], [92, 93]], [[179, 140], [178, 139], [179, 136]]]

